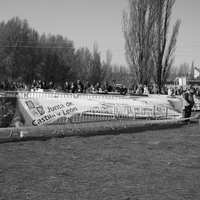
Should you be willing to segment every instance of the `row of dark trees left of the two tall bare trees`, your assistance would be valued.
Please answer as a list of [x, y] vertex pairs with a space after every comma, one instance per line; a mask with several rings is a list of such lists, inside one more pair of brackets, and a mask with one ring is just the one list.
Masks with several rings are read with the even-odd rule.
[[28, 21], [13, 17], [0, 23], [0, 81], [31, 84], [34, 79], [57, 85], [81, 80], [91, 83], [118, 80], [127, 74], [125, 66], [111, 64], [112, 52], [107, 50], [101, 60], [98, 43], [93, 51], [75, 49], [74, 42], [62, 35], [42, 34]]

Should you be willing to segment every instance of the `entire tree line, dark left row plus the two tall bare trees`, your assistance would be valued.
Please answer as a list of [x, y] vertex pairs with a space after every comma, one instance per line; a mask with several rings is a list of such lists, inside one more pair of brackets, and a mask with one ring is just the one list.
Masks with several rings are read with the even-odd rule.
[[62, 35], [42, 34], [28, 21], [13, 17], [0, 23], [0, 81], [34, 79], [63, 84], [89, 80], [92, 84], [118, 81], [123, 84], [156, 83], [159, 91], [170, 77], [180, 20], [169, 36], [175, 0], [128, 0], [122, 15], [125, 57], [128, 68], [112, 65], [112, 52], [101, 60], [98, 43], [93, 51], [75, 49], [74, 42]]

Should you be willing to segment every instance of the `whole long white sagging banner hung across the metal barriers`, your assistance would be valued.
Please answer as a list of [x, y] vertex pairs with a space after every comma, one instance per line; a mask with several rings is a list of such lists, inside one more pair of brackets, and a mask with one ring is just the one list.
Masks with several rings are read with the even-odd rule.
[[140, 117], [182, 117], [182, 100], [167, 96], [138, 98], [19, 98], [25, 126], [40, 126], [75, 114], [123, 115]]

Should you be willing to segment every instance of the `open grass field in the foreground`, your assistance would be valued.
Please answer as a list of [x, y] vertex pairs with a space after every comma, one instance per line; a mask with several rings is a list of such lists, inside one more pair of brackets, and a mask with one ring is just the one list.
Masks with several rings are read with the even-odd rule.
[[200, 125], [0, 139], [0, 200], [199, 200]]

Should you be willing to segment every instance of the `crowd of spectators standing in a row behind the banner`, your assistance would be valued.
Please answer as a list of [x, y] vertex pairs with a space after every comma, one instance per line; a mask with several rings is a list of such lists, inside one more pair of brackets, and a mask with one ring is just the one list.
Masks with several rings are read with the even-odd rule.
[[[110, 83], [110, 82], [109, 82]], [[66, 93], [99, 93], [106, 94], [109, 92], [116, 92], [119, 94], [137, 94], [137, 95], [148, 95], [148, 94], [163, 94], [168, 96], [183, 95], [187, 90], [193, 86], [188, 86], [183, 88], [182, 86], [168, 85], [164, 86], [159, 93], [159, 88], [157, 84], [153, 85], [131, 85], [126, 87], [123, 84], [111, 85], [108, 82], [93, 85], [88, 80], [83, 84], [81, 80], [76, 82], [66, 81], [63, 85], [55, 85], [52, 81], [48, 84], [45, 81], [33, 80], [31, 85], [26, 85], [25, 83], [2, 83], [0, 84], [0, 90], [4, 91], [16, 91], [16, 90], [30, 90], [30, 91], [58, 91]], [[195, 96], [200, 98], [200, 89], [195, 87]]]

